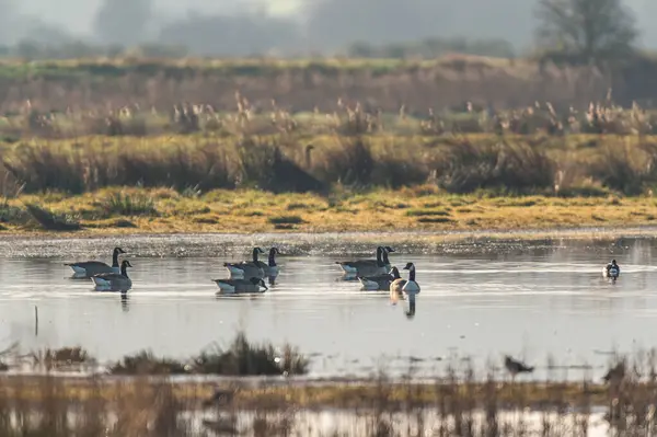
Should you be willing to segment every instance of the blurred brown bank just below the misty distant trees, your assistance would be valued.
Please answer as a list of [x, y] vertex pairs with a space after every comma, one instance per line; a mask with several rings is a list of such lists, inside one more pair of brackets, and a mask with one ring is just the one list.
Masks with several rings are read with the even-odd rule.
[[169, 110], [181, 102], [234, 111], [235, 93], [253, 108], [273, 101], [287, 111], [335, 111], [339, 102], [367, 110], [426, 114], [465, 101], [509, 108], [552, 102], [584, 107], [611, 96], [650, 106], [657, 62], [641, 58], [613, 72], [554, 62], [448, 56], [431, 61], [318, 60], [74, 60], [0, 64], [0, 111], [97, 110], [137, 104]]

